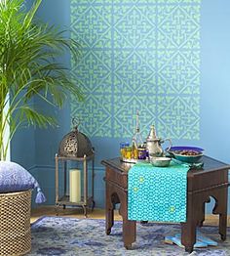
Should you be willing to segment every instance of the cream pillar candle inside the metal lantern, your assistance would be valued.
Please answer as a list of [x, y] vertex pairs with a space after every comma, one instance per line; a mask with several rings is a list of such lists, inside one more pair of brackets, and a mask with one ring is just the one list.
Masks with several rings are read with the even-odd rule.
[[69, 170], [69, 201], [81, 201], [81, 171]]

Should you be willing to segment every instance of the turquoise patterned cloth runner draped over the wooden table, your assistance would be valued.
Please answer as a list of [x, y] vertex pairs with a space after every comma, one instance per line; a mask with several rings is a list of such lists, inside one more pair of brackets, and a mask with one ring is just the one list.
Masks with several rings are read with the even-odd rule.
[[136, 163], [128, 173], [128, 219], [186, 222], [188, 165]]

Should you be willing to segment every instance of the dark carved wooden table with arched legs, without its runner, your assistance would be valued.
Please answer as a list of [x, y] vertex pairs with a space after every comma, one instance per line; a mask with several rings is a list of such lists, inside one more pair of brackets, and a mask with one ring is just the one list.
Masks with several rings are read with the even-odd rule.
[[[210, 201], [210, 196], [215, 200], [212, 213], [219, 214], [219, 235], [222, 240], [226, 239], [230, 165], [209, 156], [203, 156], [203, 161], [203, 169], [190, 169], [187, 174], [187, 221], [181, 223], [181, 242], [189, 253], [196, 241], [196, 227], [201, 227], [205, 220], [205, 203]], [[113, 227], [115, 204], [120, 203], [124, 246], [131, 249], [136, 222], [128, 220], [128, 171], [133, 165], [120, 161], [119, 157], [101, 163], [106, 167], [106, 234], [109, 235]]]

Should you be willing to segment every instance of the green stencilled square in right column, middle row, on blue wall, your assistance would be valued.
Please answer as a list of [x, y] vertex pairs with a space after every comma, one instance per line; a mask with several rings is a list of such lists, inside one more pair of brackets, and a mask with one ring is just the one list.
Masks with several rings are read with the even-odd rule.
[[199, 51], [158, 51], [158, 88], [161, 94], [200, 93]]

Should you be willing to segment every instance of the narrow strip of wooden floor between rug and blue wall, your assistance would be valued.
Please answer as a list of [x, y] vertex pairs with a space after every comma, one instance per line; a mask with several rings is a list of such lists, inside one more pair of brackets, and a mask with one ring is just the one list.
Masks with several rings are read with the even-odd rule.
[[[36, 209], [32, 209], [30, 222], [33, 223], [42, 216], [56, 216], [56, 210], [54, 206], [40, 206]], [[72, 218], [85, 218], [83, 210], [81, 208], [66, 208], [62, 209], [59, 207], [58, 216], [72, 217]], [[103, 209], [95, 209], [92, 213], [89, 211], [88, 218], [90, 219], [104, 219], [105, 213]], [[118, 210], [115, 210], [114, 213], [115, 220], [122, 220], [121, 216], [118, 213]], [[217, 226], [218, 225], [218, 216], [216, 215], [206, 215], [206, 221], [204, 225]], [[230, 216], [228, 217], [228, 227], [230, 227]]]

